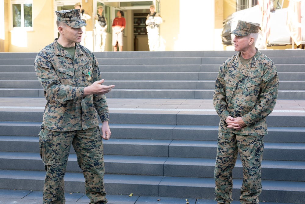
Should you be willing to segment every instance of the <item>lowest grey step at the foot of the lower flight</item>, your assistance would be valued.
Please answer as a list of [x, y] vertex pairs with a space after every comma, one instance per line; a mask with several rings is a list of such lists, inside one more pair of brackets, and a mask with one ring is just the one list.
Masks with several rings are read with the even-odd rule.
[[[13, 180], [11, 178], [14, 178]], [[32, 184], [31, 190], [41, 191], [45, 172], [0, 170], [0, 180], [3, 188], [7, 184], [18, 181], [19, 187], [25, 189], [28, 183]], [[121, 192], [128, 195], [137, 192], [138, 195], [160, 196], [160, 197], [188, 197], [196, 198], [201, 195], [204, 199], [214, 198], [215, 183], [213, 178], [174, 177], [174, 176], [142, 176], [142, 175], [117, 175], [106, 174], [104, 176], [105, 189], [108, 194]], [[242, 180], [233, 180], [232, 198], [239, 199], [239, 191]], [[268, 202], [270, 196], [277, 198], [278, 202], [300, 203], [305, 199], [305, 185], [303, 182], [291, 181], [262, 181], [262, 193], [260, 200]], [[65, 175], [65, 191], [83, 192], [84, 177], [82, 173], [67, 172]]]

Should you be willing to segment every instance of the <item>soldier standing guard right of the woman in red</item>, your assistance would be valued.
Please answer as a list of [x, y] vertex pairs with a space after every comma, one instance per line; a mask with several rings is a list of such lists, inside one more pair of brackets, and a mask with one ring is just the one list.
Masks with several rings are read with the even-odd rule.
[[146, 17], [145, 24], [147, 29], [149, 51], [159, 51], [159, 25], [162, 18], [159, 13], [155, 12], [155, 5], [150, 5], [150, 13]]

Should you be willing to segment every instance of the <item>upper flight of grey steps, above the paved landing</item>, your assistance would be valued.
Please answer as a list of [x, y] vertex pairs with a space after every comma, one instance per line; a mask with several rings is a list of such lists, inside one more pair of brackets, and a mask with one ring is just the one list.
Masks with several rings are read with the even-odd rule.
[[[277, 66], [278, 99], [305, 98], [304, 50], [262, 50]], [[219, 66], [234, 51], [95, 53], [109, 98], [213, 97]], [[34, 70], [36, 53], [0, 57], [0, 97], [44, 97]], [[27, 94], [24, 94], [24, 93]]]

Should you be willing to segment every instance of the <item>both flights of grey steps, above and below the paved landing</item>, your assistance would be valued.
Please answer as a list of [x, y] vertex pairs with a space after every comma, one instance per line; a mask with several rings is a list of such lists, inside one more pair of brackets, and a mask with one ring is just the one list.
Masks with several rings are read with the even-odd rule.
[[[305, 52], [262, 52], [278, 68], [278, 99], [303, 100]], [[198, 100], [212, 98], [219, 65], [234, 53], [105, 52], [96, 53], [96, 57], [105, 84], [116, 85], [107, 98], [126, 99], [124, 102], [130, 98]], [[34, 72], [35, 57], [35, 53], [0, 55], [0, 102], [4, 96], [24, 97], [27, 102], [9, 108], [0, 105], [2, 189], [42, 191], [45, 171], [39, 156], [38, 133], [44, 105], [27, 98], [44, 96]], [[27, 100], [36, 109], [14, 107], [29, 106]], [[164, 106], [167, 111], [154, 104], [138, 111], [135, 104], [130, 105], [131, 109], [109, 109], [112, 135], [103, 141], [106, 193], [213, 199], [219, 117], [210, 106], [204, 111], [191, 105], [188, 108], [192, 110]], [[266, 118], [269, 134], [264, 137], [260, 201], [305, 203], [304, 117], [274, 113]], [[233, 199], [238, 200], [242, 184], [239, 158], [233, 178]], [[65, 190], [84, 192], [84, 178], [73, 148]]]

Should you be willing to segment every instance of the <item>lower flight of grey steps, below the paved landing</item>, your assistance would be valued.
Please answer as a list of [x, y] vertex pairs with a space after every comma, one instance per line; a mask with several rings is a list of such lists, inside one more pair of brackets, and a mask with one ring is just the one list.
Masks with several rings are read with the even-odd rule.
[[[42, 111], [1, 112], [2, 188], [41, 191], [44, 166], [37, 134]], [[305, 199], [305, 125], [300, 118], [267, 117], [269, 134], [264, 139], [262, 200], [301, 203]], [[127, 119], [132, 123], [127, 124]], [[128, 112], [112, 113], [111, 121], [112, 139], [103, 141], [108, 194], [136, 192], [137, 195], [213, 199], [217, 115]], [[239, 159], [233, 177], [233, 197], [238, 199], [242, 181]], [[65, 185], [68, 192], [84, 189], [73, 148]]]

